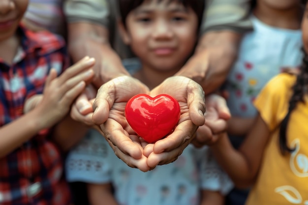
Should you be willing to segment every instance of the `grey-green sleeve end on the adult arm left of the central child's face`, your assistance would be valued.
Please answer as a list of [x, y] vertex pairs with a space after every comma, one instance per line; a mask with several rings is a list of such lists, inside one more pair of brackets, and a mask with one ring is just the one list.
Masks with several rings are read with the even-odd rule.
[[63, 12], [68, 23], [86, 21], [105, 27], [110, 24], [107, 0], [64, 0]]

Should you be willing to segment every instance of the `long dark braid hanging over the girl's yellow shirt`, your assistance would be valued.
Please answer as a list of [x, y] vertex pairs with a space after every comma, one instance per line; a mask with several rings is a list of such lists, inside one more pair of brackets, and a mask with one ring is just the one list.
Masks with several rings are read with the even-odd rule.
[[[304, 49], [303, 49], [304, 50]], [[301, 72], [297, 76], [296, 83], [293, 86], [293, 94], [289, 101], [289, 109], [287, 115], [281, 122], [279, 130], [279, 147], [282, 154], [294, 151], [294, 148], [290, 148], [287, 145], [287, 126], [292, 111], [296, 108], [298, 103], [305, 103], [304, 96], [307, 94], [308, 86], [308, 55], [304, 51], [303, 63], [301, 65]]]

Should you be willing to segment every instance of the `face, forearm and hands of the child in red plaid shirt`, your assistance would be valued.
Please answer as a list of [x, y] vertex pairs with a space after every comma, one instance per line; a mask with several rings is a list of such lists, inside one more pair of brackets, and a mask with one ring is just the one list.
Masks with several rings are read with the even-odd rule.
[[[16, 29], [27, 6], [28, 0], [0, 1], [0, 56], [8, 64], [12, 63], [20, 44]], [[8, 52], [8, 47], [11, 52]], [[93, 64], [94, 59], [85, 58], [59, 77], [52, 69], [46, 79], [43, 97], [33, 96], [30, 104], [26, 102], [24, 116], [0, 128], [0, 157], [21, 146], [42, 129], [52, 127], [61, 120], [71, 122], [70, 117], [64, 117], [69, 113], [73, 100], [86, 87], [86, 81], [92, 79], [94, 73], [90, 68]], [[55, 133], [61, 134], [61, 129], [56, 128]]]

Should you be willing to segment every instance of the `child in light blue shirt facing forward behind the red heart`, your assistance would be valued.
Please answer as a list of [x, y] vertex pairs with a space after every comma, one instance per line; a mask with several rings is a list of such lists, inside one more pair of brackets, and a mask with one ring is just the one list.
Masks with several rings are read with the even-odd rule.
[[[139, 58], [123, 64], [155, 88], [193, 52], [204, 0], [120, 0], [119, 5], [123, 40]], [[92, 205], [223, 205], [232, 187], [208, 147], [188, 145], [175, 162], [144, 173], [127, 166], [94, 131], [68, 154], [66, 176], [88, 184]]]

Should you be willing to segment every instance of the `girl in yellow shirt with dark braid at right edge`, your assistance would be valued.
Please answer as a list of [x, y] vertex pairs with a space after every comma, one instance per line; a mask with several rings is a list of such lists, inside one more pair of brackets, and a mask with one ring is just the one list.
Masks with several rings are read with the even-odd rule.
[[258, 115], [239, 150], [226, 133], [212, 146], [238, 187], [252, 185], [246, 205], [308, 203], [308, 5], [302, 22], [304, 60], [298, 76], [282, 73], [260, 92]]

